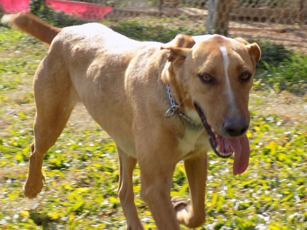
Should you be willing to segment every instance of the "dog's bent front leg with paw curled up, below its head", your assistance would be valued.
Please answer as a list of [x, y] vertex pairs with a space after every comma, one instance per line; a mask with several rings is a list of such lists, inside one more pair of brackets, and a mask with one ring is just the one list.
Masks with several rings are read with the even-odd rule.
[[191, 205], [181, 197], [173, 197], [177, 219], [189, 228], [196, 228], [205, 220], [204, 196], [207, 180], [207, 155], [184, 161], [189, 184]]

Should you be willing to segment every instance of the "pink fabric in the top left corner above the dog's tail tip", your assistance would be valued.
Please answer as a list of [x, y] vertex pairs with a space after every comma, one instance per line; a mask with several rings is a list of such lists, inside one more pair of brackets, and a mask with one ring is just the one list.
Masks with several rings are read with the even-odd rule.
[[0, 0], [0, 6], [6, 13], [30, 11], [30, 0]]

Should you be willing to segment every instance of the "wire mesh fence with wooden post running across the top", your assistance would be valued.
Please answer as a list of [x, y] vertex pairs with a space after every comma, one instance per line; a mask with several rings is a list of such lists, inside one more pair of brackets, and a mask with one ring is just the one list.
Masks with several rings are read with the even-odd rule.
[[[49, 2], [50, 7], [52, 2], [58, 4], [62, 2], [64, 5], [69, 4], [70, 9], [75, 4], [75, 10], [70, 10], [68, 13], [79, 12], [80, 15], [80, 10], [83, 10], [82, 17], [92, 21], [100, 21], [102, 17], [109, 21], [144, 17], [168, 18], [168, 23], [206, 26], [204, 33], [228, 33], [230, 36], [266, 38], [307, 52], [307, 0], [33, 1]], [[20, 5], [20, 0], [0, 0], [2, 10], [5, 10], [3, 4], [6, 3], [7, 6], [10, 2], [16, 7]], [[30, 0], [22, 0], [22, 2], [29, 3]], [[89, 3], [94, 3], [95, 10], [91, 8], [93, 6], [87, 5]], [[103, 10], [105, 6], [107, 9]], [[109, 7], [112, 9], [110, 10]], [[54, 9], [61, 10], [61, 7]], [[62, 9], [65, 11], [64, 7]], [[103, 13], [99, 14], [99, 12]]]

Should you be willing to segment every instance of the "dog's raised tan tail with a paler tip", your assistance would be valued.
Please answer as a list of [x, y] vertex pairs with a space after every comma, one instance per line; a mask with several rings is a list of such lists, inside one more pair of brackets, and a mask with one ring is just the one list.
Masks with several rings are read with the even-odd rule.
[[1, 23], [9, 25], [28, 33], [39, 40], [51, 44], [61, 29], [42, 21], [32, 13], [21, 12], [4, 15]]

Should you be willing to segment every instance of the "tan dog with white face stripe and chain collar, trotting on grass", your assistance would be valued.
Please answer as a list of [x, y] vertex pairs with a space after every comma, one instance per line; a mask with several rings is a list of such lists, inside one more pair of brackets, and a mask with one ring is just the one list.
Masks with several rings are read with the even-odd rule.
[[[134, 205], [138, 162], [141, 194], [158, 229], [204, 222], [207, 151], [235, 152], [233, 174], [249, 161], [249, 91], [260, 59], [257, 44], [219, 35], [178, 35], [168, 44], [138, 42], [90, 23], [59, 29], [29, 13], [2, 20], [51, 44], [34, 77], [37, 113], [26, 197], [43, 187], [46, 151], [82, 102], [115, 140], [119, 198], [127, 229], [143, 229]], [[191, 204], [171, 200], [175, 165], [183, 160]]]

